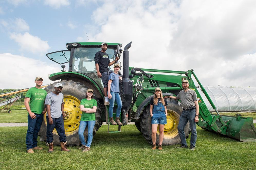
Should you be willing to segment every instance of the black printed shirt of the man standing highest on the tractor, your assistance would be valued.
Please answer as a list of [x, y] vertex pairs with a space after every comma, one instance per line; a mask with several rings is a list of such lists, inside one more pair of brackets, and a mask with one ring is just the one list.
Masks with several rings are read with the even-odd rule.
[[95, 64], [99, 65], [99, 72], [103, 73], [109, 71], [108, 64], [110, 63], [107, 53], [98, 51], [94, 57]]

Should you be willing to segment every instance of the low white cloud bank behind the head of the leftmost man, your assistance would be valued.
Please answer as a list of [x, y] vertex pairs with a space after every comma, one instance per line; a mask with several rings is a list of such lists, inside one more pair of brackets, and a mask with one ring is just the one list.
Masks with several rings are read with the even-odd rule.
[[[35, 77], [41, 76], [43, 84], [52, 83], [48, 74], [60, 72], [60, 67], [47, 65], [39, 60], [12, 55], [10, 53], [0, 54], [0, 67], [9, 70], [1, 75], [0, 89], [20, 89], [34, 87]], [[14, 62], [15, 61], [15, 62]]]

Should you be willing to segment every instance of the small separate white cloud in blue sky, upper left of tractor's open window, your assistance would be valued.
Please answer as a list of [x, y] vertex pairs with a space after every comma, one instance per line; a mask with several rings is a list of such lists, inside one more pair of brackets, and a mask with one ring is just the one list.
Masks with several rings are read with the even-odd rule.
[[30, 51], [34, 54], [43, 55], [50, 49], [48, 41], [43, 41], [41, 38], [30, 35], [29, 33], [12, 33], [11, 39], [15, 40], [21, 47], [21, 51]]

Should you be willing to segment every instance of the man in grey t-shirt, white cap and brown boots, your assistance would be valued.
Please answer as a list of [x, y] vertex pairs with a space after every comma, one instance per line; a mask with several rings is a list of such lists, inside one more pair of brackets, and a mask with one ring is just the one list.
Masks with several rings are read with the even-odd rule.
[[46, 142], [49, 144], [48, 152], [53, 152], [53, 129], [55, 128], [60, 139], [61, 151], [70, 151], [67, 148], [67, 140], [64, 129], [63, 118], [66, 117], [64, 114], [64, 101], [63, 94], [60, 93], [62, 90], [62, 84], [56, 83], [54, 91], [47, 94], [45, 98], [45, 105], [47, 108], [47, 132], [46, 132]]

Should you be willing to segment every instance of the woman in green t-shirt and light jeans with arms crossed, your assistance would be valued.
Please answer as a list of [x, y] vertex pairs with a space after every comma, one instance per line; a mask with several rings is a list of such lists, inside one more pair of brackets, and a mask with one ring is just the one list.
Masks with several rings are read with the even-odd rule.
[[[97, 109], [97, 101], [93, 99], [93, 89], [87, 89], [85, 99], [81, 100], [80, 110], [83, 111], [81, 116], [78, 135], [82, 146], [83, 152], [90, 151], [91, 143], [93, 140], [93, 128], [95, 125], [95, 112]], [[85, 143], [84, 131], [88, 125], [88, 140]]]

